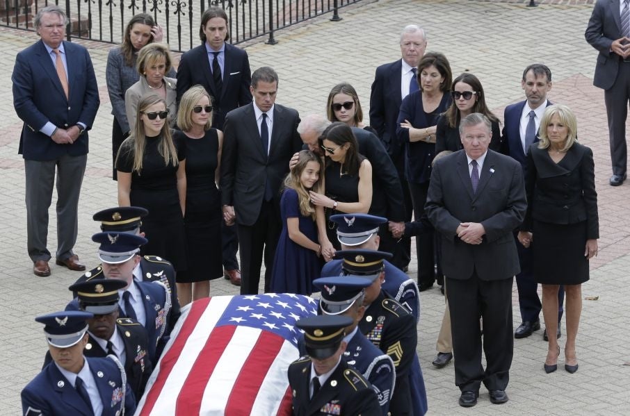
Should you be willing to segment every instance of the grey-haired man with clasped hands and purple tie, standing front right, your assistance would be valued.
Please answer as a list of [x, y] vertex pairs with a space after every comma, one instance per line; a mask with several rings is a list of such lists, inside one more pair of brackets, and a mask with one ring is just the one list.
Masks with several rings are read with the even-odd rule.
[[[512, 230], [525, 216], [523, 172], [488, 149], [490, 120], [462, 119], [463, 150], [433, 166], [425, 211], [442, 238], [442, 267], [451, 310], [455, 385], [460, 406], [477, 403], [483, 381], [492, 403], [505, 403], [512, 364], [512, 278], [519, 258]], [[481, 329], [487, 360], [481, 365]]]

